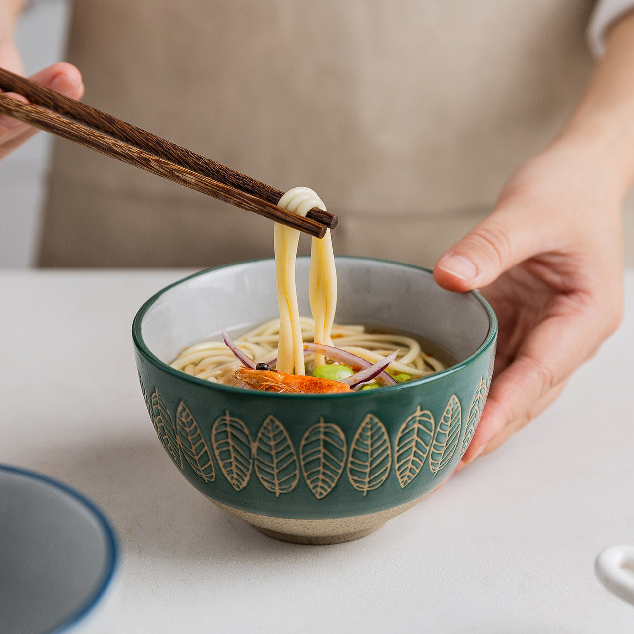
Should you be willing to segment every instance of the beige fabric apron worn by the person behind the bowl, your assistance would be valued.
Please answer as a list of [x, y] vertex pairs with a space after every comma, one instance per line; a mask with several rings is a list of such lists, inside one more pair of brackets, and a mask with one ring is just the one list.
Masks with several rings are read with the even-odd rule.
[[[77, 0], [68, 60], [86, 103], [280, 190], [316, 190], [340, 217], [337, 253], [429, 266], [573, 109], [592, 5]], [[272, 253], [269, 221], [56, 143], [42, 265]]]

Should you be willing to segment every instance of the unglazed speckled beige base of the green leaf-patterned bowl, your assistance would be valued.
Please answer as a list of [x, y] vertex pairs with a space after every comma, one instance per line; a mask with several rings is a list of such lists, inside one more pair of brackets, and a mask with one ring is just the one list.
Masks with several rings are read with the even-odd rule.
[[[427, 494], [429, 495], [429, 493]], [[426, 495], [401, 504], [398, 507], [386, 508], [376, 513], [356, 515], [354, 517], [334, 517], [332, 519], [292, 519], [289, 517], [269, 517], [233, 508], [211, 500], [215, 505], [231, 515], [249, 522], [261, 533], [276, 540], [289, 541], [294, 544], [323, 546], [340, 544], [346, 541], [359, 540], [377, 531], [385, 522], [404, 513], [425, 498]]]

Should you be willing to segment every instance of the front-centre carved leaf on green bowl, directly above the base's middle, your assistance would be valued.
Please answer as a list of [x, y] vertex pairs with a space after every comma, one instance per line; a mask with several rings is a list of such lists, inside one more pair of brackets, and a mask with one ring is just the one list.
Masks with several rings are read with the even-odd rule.
[[299, 461], [304, 480], [318, 499], [335, 488], [346, 464], [346, 436], [337, 425], [324, 422], [306, 430], [299, 444]]

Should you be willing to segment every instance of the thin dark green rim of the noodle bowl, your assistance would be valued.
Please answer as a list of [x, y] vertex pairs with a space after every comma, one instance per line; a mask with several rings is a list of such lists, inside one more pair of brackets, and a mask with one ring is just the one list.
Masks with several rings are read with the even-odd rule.
[[[309, 259], [309, 256], [297, 256], [297, 259]], [[206, 275], [207, 273], [212, 273], [214, 271], [220, 271], [221, 269], [230, 268], [234, 266], [241, 266], [244, 264], [256, 264], [257, 262], [272, 262], [274, 259], [271, 257], [261, 257], [252, 260], [245, 260], [241, 262], [231, 262], [230, 264], [223, 264], [222, 266], [215, 266], [209, 269], [203, 269], [202, 271], [197, 271], [196, 273], [192, 273], [191, 275], [187, 275], [180, 280], [176, 280], [171, 284], [161, 288], [152, 297], [146, 299], [145, 302], [138, 309], [136, 314], [134, 315], [134, 320], [132, 323], [132, 337], [134, 341], [134, 346], [142, 354], [150, 363], [157, 366], [160, 370], [171, 374], [176, 378], [180, 378], [181, 380], [185, 380], [193, 385], [202, 385], [207, 389], [211, 389], [212, 391], [227, 391], [234, 394], [243, 394], [245, 398], [250, 397], [264, 397], [264, 398], [284, 398], [284, 399], [330, 399], [330, 398], [363, 398], [363, 396], [372, 396], [376, 393], [375, 390], [367, 390], [367, 391], [358, 391], [358, 392], [344, 392], [340, 394], [280, 394], [278, 392], [261, 392], [257, 390], [245, 390], [243, 387], [233, 387], [231, 385], [221, 385], [217, 383], [212, 383], [210, 381], [206, 381], [204, 378], [193, 377], [186, 372], [181, 372], [181, 370], [176, 370], [176, 368], [172, 368], [171, 365], [165, 363], [159, 359], [155, 354], [153, 354], [150, 349], [146, 346], [145, 341], [143, 340], [143, 336], [141, 335], [141, 325], [143, 323], [143, 318], [145, 318], [145, 314], [148, 309], [168, 290], [174, 288], [178, 285], [185, 283], [193, 278], [198, 276]], [[362, 257], [362, 256], [336, 256], [335, 262], [342, 260], [354, 260], [354, 261], [366, 261], [366, 262], [380, 262], [381, 264], [395, 264], [397, 266], [401, 266], [403, 268], [415, 269], [417, 271], [424, 271], [425, 273], [429, 273], [433, 275], [432, 269], [425, 268], [423, 266], [416, 266], [415, 264], [406, 264], [404, 262], [397, 262], [394, 260], [386, 260], [378, 257]], [[470, 365], [475, 359], [485, 354], [489, 347], [493, 345], [496, 340], [496, 335], [498, 333], [498, 319], [489, 304], [482, 295], [477, 292], [477, 290], [470, 290], [464, 294], [470, 294], [475, 297], [475, 299], [482, 305], [484, 310], [486, 311], [489, 318], [489, 331], [484, 338], [484, 341], [477, 347], [474, 353], [470, 354], [466, 359], [459, 361], [455, 365], [452, 365], [440, 372], [435, 372], [427, 377], [416, 378], [414, 380], [408, 381], [407, 383], [399, 383], [398, 385], [387, 385], [383, 387], [380, 391], [385, 392], [389, 391], [391, 394], [398, 390], [402, 389], [411, 389], [414, 386], [425, 385], [428, 383], [434, 383], [437, 380], [441, 380], [444, 377], [447, 377], [455, 372], [460, 372], [462, 368]]]

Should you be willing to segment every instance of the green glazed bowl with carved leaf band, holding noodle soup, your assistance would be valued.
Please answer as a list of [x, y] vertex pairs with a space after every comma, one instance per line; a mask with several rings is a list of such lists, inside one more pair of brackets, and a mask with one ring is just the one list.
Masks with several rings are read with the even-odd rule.
[[[301, 314], [309, 260], [297, 259]], [[430, 271], [337, 258], [337, 323], [414, 333], [456, 359], [443, 372], [353, 394], [276, 394], [191, 377], [168, 364], [186, 346], [279, 316], [275, 262], [202, 271], [164, 288], [133, 323], [152, 424], [172, 462], [219, 507], [263, 533], [338, 543], [372, 533], [439, 486], [467, 449], [486, 401], [497, 337], [476, 292]]]

